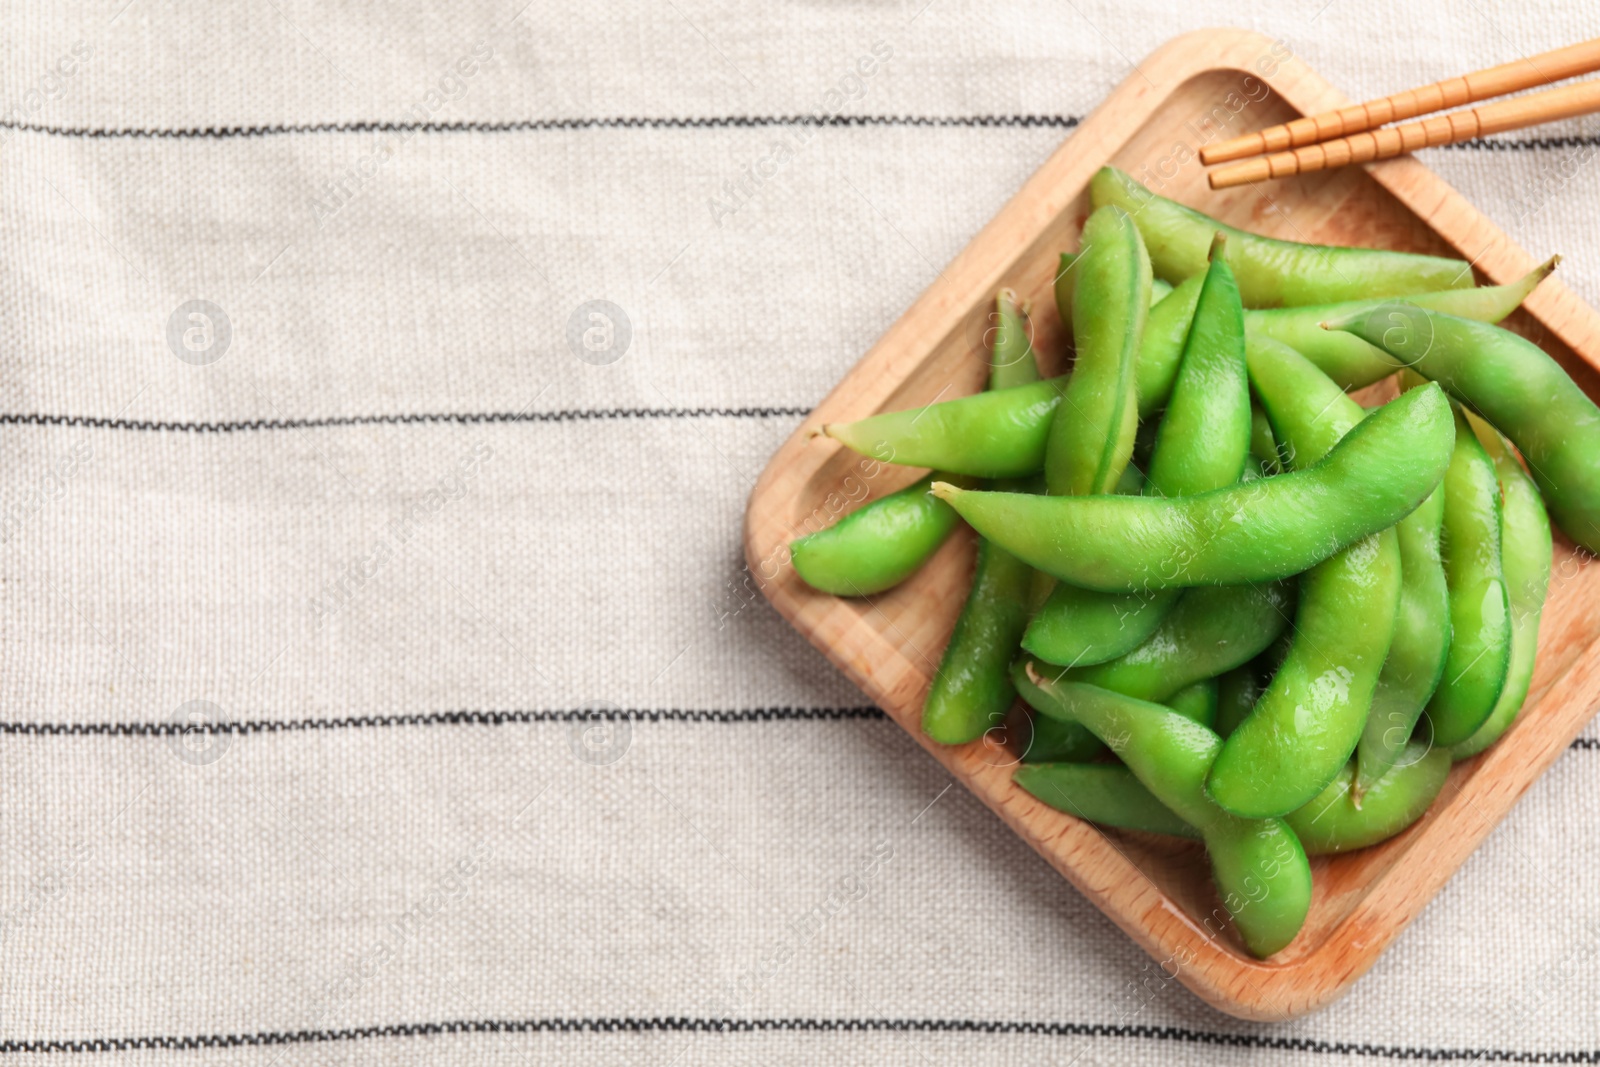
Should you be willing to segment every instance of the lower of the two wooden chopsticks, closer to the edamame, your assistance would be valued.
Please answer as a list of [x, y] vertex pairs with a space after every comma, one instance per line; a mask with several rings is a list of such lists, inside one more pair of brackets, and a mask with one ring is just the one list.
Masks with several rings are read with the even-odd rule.
[[1592, 112], [1600, 112], [1600, 78], [1515, 96], [1483, 107], [1467, 107], [1448, 115], [1434, 115], [1403, 126], [1363, 130], [1349, 138], [1334, 138], [1290, 152], [1258, 155], [1232, 166], [1218, 168], [1208, 178], [1211, 189], [1229, 189], [1230, 186], [1333, 170], [1350, 163], [1387, 160], [1416, 149], [1470, 141], [1490, 133], [1538, 126], [1557, 118], [1573, 118]]

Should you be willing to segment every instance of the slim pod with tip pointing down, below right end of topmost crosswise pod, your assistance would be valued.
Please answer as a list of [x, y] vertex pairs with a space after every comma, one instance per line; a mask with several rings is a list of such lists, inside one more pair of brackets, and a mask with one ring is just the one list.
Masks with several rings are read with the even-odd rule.
[[1440, 555], [1445, 490], [1400, 520], [1400, 611], [1389, 659], [1378, 675], [1373, 709], [1355, 747], [1355, 790], [1363, 795], [1400, 758], [1422, 717], [1450, 653], [1450, 593]]

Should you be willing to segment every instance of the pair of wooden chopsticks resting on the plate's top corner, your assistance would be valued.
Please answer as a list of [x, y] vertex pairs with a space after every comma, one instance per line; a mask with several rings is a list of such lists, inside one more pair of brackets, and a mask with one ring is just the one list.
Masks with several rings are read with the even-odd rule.
[[1600, 37], [1365, 104], [1296, 118], [1261, 133], [1246, 133], [1200, 149], [1200, 162], [1210, 166], [1256, 157], [1210, 173], [1211, 189], [1229, 189], [1589, 115], [1600, 110], [1600, 78], [1483, 107], [1466, 107], [1403, 126], [1384, 125], [1595, 70], [1600, 70]]

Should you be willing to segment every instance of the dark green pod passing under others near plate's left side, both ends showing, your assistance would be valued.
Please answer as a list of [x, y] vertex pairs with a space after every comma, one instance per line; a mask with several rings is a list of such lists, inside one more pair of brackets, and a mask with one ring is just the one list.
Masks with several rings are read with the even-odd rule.
[[[1038, 381], [1027, 315], [1011, 290], [995, 298], [989, 387]], [[1011, 661], [1027, 627], [1034, 569], [990, 541], [979, 541], [973, 587], [939, 659], [922, 709], [922, 729], [939, 744], [966, 744], [1005, 721], [1016, 702]]]

